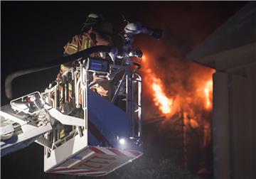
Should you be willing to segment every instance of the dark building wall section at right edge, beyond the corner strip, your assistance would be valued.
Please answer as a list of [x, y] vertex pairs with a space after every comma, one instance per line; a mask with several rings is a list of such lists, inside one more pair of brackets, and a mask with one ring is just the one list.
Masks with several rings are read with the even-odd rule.
[[256, 178], [256, 65], [240, 73], [230, 75], [231, 176]]

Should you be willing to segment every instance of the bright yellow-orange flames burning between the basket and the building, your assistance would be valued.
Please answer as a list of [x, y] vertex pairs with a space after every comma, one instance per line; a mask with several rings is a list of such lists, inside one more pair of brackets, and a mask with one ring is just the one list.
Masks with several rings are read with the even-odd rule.
[[164, 87], [162, 80], [157, 77], [156, 72], [149, 67], [149, 59], [145, 55], [142, 58], [142, 63], [145, 66], [144, 69], [146, 69], [144, 70], [146, 88], [150, 89], [149, 92], [153, 98], [154, 105], [158, 107], [162, 114], [171, 116], [183, 111], [191, 116], [195, 116], [195, 112], [193, 112], [193, 109], [191, 110], [195, 106], [201, 106], [206, 110], [212, 109], [213, 80], [211, 74], [213, 71], [210, 72], [208, 79], [195, 82], [195, 94], [193, 92], [191, 94], [183, 92], [183, 87], [178, 87], [178, 93], [171, 96], [166, 94], [166, 87]]

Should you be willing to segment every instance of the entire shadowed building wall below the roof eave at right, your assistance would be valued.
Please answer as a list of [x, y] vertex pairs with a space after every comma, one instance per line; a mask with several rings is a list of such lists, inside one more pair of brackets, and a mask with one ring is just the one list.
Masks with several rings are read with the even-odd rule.
[[213, 75], [213, 155], [214, 178], [256, 178], [256, 63]]

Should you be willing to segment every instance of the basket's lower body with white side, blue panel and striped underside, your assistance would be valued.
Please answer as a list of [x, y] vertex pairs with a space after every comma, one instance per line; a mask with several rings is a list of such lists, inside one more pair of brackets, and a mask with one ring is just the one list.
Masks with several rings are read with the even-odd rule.
[[130, 137], [132, 124], [122, 109], [90, 90], [88, 109], [88, 126], [82, 134], [50, 153], [45, 147], [47, 173], [107, 175], [142, 156], [142, 143]]

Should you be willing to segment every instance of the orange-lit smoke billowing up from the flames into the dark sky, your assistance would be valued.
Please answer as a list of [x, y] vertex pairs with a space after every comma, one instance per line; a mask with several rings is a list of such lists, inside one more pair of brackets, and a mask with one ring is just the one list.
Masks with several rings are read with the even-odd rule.
[[[214, 70], [189, 62], [186, 55], [240, 6], [235, 4], [230, 7], [230, 4], [215, 2], [162, 2], [145, 5], [140, 16], [142, 22], [145, 26], [161, 28], [163, 36], [160, 40], [146, 35], [135, 39], [134, 47], [140, 47], [146, 56], [146, 61], [142, 62], [144, 119], [161, 116], [152, 100], [149, 85], [145, 82], [149, 76], [147, 69], [161, 79], [168, 97], [174, 98], [174, 101], [179, 97], [182, 103], [180, 106], [193, 109], [198, 114], [208, 112], [203, 108], [203, 86], [204, 82], [211, 79]], [[223, 11], [223, 7], [226, 11]]]

